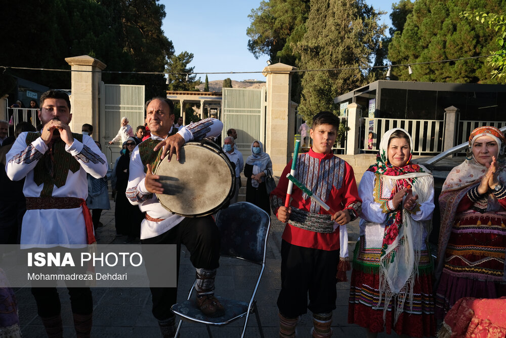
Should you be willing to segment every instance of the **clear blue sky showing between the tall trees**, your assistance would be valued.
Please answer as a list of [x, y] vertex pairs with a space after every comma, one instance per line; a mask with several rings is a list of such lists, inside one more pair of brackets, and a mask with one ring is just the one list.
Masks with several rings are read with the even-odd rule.
[[[195, 72], [259, 71], [251, 74], [208, 74], [209, 81], [265, 81], [260, 73], [267, 66], [267, 55], [255, 59], [247, 49], [248, 14], [260, 6], [260, 0], [161, 0], [167, 13], [162, 29], [174, 44], [176, 54], [193, 53]], [[391, 0], [366, 0], [375, 9], [388, 12], [382, 23], [390, 26]], [[199, 74], [205, 80], [205, 74]]]

